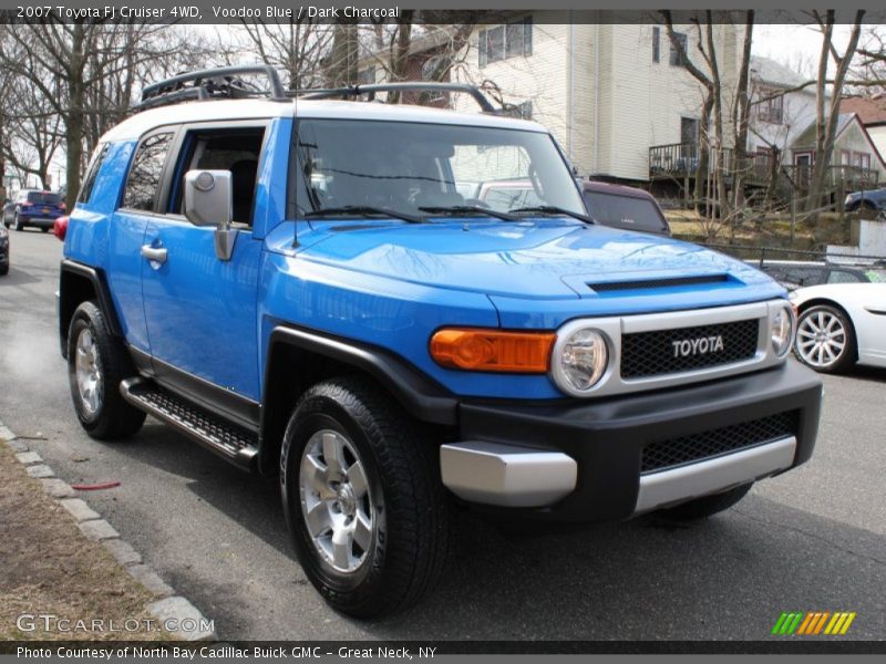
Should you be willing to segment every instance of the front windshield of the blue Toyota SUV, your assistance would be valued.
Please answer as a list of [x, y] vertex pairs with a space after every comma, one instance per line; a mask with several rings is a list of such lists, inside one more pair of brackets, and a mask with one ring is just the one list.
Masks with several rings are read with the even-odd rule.
[[333, 216], [333, 210], [342, 208], [422, 218], [445, 216], [445, 208], [465, 206], [507, 212], [525, 205], [525, 197], [515, 201], [487, 193], [508, 183], [530, 188], [533, 205], [585, 211], [566, 163], [544, 133], [302, 120], [296, 141], [291, 217], [313, 218], [326, 209]]

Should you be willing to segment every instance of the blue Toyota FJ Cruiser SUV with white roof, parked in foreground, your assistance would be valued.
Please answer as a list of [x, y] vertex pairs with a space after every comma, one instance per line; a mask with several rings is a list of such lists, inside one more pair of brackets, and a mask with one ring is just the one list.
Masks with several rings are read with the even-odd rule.
[[[217, 98], [257, 73], [262, 98]], [[90, 435], [150, 413], [279, 474], [306, 573], [354, 615], [426, 591], [455, 501], [703, 517], [810, 458], [784, 289], [595, 225], [552, 135], [475, 89], [450, 87], [485, 113], [347, 101], [390, 87], [197, 72], [101, 139], [59, 302]], [[498, 180], [542, 204], [481, 200]]]

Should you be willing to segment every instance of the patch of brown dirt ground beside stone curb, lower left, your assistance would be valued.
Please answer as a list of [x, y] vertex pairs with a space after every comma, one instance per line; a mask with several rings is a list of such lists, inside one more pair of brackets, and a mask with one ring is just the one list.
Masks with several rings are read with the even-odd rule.
[[[154, 631], [145, 623], [144, 608], [153, 599], [101, 544], [80, 532], [0, 442], [0, 641], [164, 639], [156, 622]], [[28, 623], [20, 630], [22, 614], [70, 620], [71, 631], [45, 631], [42, 619], [34, 631]], [[93, 620], [103, 621], [104, 629], [93, 629]], [[138, 629], [128, 631], [124, 623]]]

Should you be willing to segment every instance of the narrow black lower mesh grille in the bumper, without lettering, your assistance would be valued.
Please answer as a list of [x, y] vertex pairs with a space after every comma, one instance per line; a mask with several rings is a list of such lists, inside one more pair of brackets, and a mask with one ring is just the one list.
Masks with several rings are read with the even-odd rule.
[[701, 434], [651, 443], [643, 448], [640, 471], [658, 473], [795, 436], [796, 428], [797, 414], [791, 411]]

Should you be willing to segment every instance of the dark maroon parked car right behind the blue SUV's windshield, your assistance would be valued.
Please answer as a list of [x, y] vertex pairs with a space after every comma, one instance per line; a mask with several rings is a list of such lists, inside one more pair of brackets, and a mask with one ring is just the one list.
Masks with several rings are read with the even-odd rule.
[[655, 196], [643, 189], [581, 180], [585, 207], [595, 221], [641, 232], [671, 235], [668, 220]]

